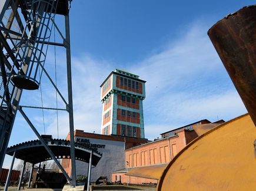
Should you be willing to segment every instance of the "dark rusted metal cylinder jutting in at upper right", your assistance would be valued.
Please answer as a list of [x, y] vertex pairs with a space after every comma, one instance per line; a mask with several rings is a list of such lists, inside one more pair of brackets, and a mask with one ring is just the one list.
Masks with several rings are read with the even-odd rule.
[[256, 125], [256, 5], [212, 26], [208, 35]]

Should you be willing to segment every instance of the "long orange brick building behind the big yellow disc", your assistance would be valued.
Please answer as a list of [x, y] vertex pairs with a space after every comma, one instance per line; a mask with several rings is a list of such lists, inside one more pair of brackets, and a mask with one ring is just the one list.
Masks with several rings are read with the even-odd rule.
[[[128, 181], [128, 183], [132, 184], [157, 183], [157, 179], [149, 179], [140, 175], [144, 167], [167, 165], [189, 142], [223, 122], [224, 120], [213, 123], [207, 119], [200, 120], [161, 133], [161, 139], [126, 149], [126, 166], [124, 169], [112, 172], [112, 182], [121, 180], [122, 183], [127, 183]], [[137, 176], [127, 176], [125, 175], [126, 173], [128, 175], [137, 174]]]

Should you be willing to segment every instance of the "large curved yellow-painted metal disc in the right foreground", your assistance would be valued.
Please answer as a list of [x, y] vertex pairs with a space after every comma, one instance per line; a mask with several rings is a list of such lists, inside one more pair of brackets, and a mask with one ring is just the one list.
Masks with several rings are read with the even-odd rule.
[[157, 190], [256, 190], [255, 139], [248, 114], [217, 126], [171, 160]]

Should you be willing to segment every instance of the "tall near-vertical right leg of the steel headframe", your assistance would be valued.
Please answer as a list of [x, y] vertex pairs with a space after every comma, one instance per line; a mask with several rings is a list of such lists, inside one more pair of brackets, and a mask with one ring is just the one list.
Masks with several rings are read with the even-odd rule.
[[70, 153], [71, 153], [71, 186], [76, 185], [75, 170], [75, 141], [74, 141], [74, 118], [73, 118], [73, 101], [72, 101], [72, 79], [71, 79], [71, 51], [70, 51], [70, 35], [69, 35], [69, 15], [65, 15], [65, 31], [66, 31], [66, 53], [67, 53], [67, 78], [68, 78], [68, 113], [69, 113], [69, 132], [70, 132]]

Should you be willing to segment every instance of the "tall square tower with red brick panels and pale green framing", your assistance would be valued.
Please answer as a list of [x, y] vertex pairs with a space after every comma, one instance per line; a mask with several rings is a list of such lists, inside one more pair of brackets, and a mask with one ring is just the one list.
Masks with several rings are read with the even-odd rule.
[[108, 75], [101, 85], [101, 134], [145, 138], [142, 106], [145, 82], [122, 69]]

